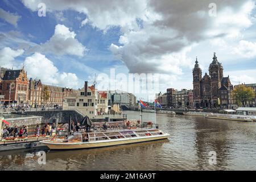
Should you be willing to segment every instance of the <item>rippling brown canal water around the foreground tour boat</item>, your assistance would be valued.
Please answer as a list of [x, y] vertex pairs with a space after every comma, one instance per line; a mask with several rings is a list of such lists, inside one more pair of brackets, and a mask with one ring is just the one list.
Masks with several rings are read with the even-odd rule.
[[[139, 119], [137, 111], [125, 111]], [[156, 114], [168, 140], [75, 151], [0, 152], [0, 170], [256, 170], [256, 123]], [[154, 122], [154, 113], [143, 113]], [[215, 153], [216, 152], [216, 153]], [[216, 163], [214, 156], [216, 154]], [[211, 163], [209, 163], [209, 159]], [[213, 159], [213, 160], [212, 160]]]

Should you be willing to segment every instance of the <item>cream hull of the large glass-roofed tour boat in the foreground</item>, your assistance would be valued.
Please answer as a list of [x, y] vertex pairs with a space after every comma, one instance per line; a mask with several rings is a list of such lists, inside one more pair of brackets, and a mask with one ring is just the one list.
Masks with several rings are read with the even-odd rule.
[[47, 141], [42, 141], [41, 143], [45, 144], [51, 150], [76, 150], [84, 148], [98, 148], [98, 147], [109, 147], [117, 146], [121, 144], [131, 144], [131, 143], [140, 143], [140, 142], [149, 142], [153, 140], [167, 139], [170, 135], [164, 134], [162, 136], [152, 136], [146, 138], [126, 138], [126, 139], [114, 139], [108, 141], [96, 141], [96, 142], [84, 142], [84, 143], [51, 143]]

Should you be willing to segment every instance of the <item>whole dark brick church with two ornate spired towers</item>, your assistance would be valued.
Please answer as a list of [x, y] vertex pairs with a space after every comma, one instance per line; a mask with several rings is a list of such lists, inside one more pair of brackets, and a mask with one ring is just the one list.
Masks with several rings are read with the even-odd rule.
[[223, 77], [222, 64], [218, 62], [214, 52], [213, 61], [209, 65], [209, 75], [202, 70], [199, 62], [193, 68], [193, 103], [196, 108], [231, 108], [233, 105], [233, 85], [228, 77]]

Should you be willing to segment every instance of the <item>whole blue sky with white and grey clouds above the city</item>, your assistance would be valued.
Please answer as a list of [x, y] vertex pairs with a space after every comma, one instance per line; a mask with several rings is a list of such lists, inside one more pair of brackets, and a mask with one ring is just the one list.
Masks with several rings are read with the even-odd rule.
[[24, 65], [28, 78], [74, 89], [93, 84], [94, 75], [98, 86], [102, 75], [110, 84], [111, 70], [113, 88], [127, 89], [129, 73], [149, 73], [158, 75], [157, 92], [164, 93], [192, 89], [196, 57], [204, 75], [216, 52], [233, 85], [255, 83], [255, 6], [252, 0], [2, 0], [0, 66]]

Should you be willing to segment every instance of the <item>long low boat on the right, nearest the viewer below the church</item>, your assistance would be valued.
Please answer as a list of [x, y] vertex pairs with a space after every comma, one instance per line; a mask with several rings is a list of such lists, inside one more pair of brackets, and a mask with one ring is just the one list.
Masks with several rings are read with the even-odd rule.
[[208, 114], [205, 118], [212, 119], [224, 119], [224, 120], [232, 120], [232, 121], [253, 121], [249, 117], [249, 115], [233, 115], [233, 114]]

